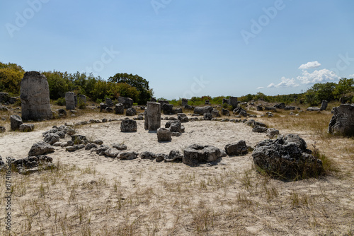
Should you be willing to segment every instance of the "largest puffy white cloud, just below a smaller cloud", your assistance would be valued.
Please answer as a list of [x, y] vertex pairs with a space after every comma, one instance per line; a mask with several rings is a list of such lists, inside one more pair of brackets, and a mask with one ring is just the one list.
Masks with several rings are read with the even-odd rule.
[[340, 78], [341, 77], [337, 76], [336, 73], [328, 69], [316, 70], [312, 73], [302, 71], [302, 76], [297, 76], [297, 80], [304, 84], [334, 82], [338, 81]]

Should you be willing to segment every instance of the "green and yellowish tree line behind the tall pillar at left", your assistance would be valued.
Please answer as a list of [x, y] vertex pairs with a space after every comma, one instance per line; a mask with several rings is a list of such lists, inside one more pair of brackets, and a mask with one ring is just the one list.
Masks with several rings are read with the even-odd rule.
[[[20, 93], [20, 83], [25, 71], [17, 64], [0, 62], [0, 91], [16, 96]], [[67, 73], [62, 71], [40, 71], [45, 77], [50, 89], [50, 99], [57, 100], [65, 97], [65, 93], [74, 91], [83, 94], [95, 102], [105, 98], [115, 100], [119, 96], [132, 98], [138, 104], [146, 104], [152, 98], [153, 90], [149, 81], [138, 75], [116, 73], [108, 81], [100, 76], [86, 73]]]

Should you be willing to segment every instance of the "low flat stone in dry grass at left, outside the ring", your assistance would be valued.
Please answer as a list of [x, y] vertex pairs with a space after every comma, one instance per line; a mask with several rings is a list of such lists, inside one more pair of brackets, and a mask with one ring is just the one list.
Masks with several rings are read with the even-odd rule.
[[15, 160], [12, 163], [12, 166], [13, 170], [21, 175], [28, 175], [36, 171], [51, 170], [55, 168], [55, 165], [52, 164], [52, 160], [52, 158], [45, 155], [30, 156], [28, 158]]

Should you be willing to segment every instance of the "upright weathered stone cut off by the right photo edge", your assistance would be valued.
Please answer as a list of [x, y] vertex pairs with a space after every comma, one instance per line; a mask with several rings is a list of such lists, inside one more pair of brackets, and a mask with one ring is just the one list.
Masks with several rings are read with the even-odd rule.
[[329, 122], [329, 134], [354, 136], [354, 104], [341, 104], [333, 110], [333, 117]]

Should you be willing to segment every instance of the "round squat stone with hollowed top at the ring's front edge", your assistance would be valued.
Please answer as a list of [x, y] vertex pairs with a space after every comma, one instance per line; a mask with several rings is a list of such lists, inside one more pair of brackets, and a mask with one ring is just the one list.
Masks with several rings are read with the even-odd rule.
[[220, 158], [221, 152], [215, 146], [201, 146], [193, 144], [183, 151], [183, 163], [196, 166], [199, 163], [212, 162]]

